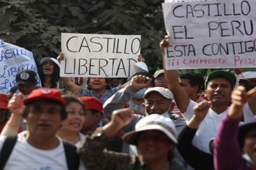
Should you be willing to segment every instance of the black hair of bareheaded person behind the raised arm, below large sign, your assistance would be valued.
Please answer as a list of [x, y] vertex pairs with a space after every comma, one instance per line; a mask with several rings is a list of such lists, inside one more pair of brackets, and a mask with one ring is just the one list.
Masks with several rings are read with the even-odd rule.
[[201, 74], [196, 74], [194, 72], [186, 72], [179, 76], [180, 79], [188, 79], [191, 86], [198, 86], [197, 93], [202, 90], [204, 85], [204, 77]]

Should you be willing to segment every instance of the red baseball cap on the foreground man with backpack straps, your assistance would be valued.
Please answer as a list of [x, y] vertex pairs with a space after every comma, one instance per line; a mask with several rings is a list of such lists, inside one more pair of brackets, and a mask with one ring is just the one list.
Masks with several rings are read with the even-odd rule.
[[33, 90], [27, 98], [24, 100], [24, 104], [28, 105], [28, 103], [35, 102], [36, 100], [51, 100], [56, 103], [60, 103], [65, 106], [66, 102], [61, 97], [61, 91], [50, 88], [39, 88]]

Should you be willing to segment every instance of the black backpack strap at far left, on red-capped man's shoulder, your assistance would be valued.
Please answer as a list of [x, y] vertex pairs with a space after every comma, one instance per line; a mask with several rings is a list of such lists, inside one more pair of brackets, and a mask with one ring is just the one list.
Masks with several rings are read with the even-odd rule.
[[4, 140], [3, 147], [0, 152], [0, 170], [4, 169], [8, 158], [11, 155], [14, 145], [16, 144], [17, 136], [8, 136]]

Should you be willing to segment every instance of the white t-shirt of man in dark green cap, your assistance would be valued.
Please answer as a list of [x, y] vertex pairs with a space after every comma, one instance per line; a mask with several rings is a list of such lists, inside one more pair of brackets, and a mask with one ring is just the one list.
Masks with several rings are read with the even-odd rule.
[[[187, 123], [194, 114], [193, 107], [196, 104], [197, 103], [195, 103], [193, 100], [190, 100], [187, 111], [183, 114]], [[214, 110], [209, 109], [205, 119], [203, 119], [199, 128], [197, 129], [197, 132], [195, 133], [195, 137], [193, 138], [193, 145], [195, 145], [200, 150], [209, 153], [209, 141], [215, 137], [219, 122], [221, 122], [221, 118], [226, 114], [227, 111], [228, 108], [224, 112], [221, 112], [221, 114], [217, 114], [214, 112]], [[252, 110], [250, 110], [248, 103], [245, 103], [243, 107], [244, 122], [248, 122], [248, 120], [252, 117], [254, 117]]]

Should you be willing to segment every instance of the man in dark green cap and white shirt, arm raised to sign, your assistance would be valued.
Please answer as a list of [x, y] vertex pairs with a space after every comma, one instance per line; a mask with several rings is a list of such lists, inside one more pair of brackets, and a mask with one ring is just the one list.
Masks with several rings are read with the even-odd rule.
[[[164, 48], [168, 46], [169, 37], [160, 42], [161, 55], [164, 56]], [[164, 62], [164, 57], [163, 57]], [[165, 69], [164, 69], [165, 70]], [[185, 121], [188, 122], [195, 116], [193, 107], [196, 103], [190, 100], [188, 93], [182, 88], [178, 81], [176, 70], [165, 70], [166, 81], [170, 91], [173, 92], [178, 109], [183, 112]], [[205, 79], [205, 97], [212, 103], [209, 112], [197, 130], [193, 145], [200, 150], [209, 152], [209, 141], [215, 137], [221, 117], [228, 111], [228, 104], [231, 101], [231, 93], [236, 84], [236, 77], [231, 72], [217, 70], [211, 72]], [[250, 98], [243, 107], [243, 120], [247, 122], [256, 114], [256, 97]]]

